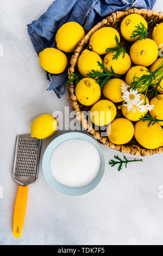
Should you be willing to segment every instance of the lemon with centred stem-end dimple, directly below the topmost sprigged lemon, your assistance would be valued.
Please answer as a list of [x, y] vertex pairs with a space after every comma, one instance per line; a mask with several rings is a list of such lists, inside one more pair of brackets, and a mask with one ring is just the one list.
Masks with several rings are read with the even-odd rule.
[[130, 57], [135, 65], [149, 66], [158, 58], [158, 45], [152, 39], [137, 40], [130, 48]]

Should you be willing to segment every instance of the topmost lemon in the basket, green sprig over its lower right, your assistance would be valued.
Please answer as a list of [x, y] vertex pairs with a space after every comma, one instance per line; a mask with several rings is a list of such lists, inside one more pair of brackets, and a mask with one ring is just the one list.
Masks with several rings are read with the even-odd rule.
[[140, 38], [139, 35], [137, 35], [134, 39], [131, 38], [131, 34], [133, 31], [135, 31], [137, 25], [140, 25], [142, 23], [146, 28], [148, 28], [146, 20], [139, 14], [130, 14], [126, 16], [123, 21], [121, 22], [121, 34], [127, 41], [136, 41]]

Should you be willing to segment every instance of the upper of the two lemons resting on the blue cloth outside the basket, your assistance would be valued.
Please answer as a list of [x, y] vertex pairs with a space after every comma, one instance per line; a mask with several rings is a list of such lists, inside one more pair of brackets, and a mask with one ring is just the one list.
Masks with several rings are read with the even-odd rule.
[[55, 35], [57, 48], [64, 52], [73, 52], [84, 35], [84, 29], [79, 23], [67, 22], [58, 29]]

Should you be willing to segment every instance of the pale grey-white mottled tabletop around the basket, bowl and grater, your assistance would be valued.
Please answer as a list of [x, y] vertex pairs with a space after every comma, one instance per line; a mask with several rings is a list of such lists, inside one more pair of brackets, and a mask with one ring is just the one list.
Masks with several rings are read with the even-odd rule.
[[[78, 198], [53, 191], [43, 178], [29, 187], [23, 234], [12, 236], [12, 217], [17, 184], [11, 179], [16, 134], [30, 133], [39, 114], [64, 111], [70, 106], [67, 93], [61, 100], [46, 92], [47, 81], [27, 34], [27, 23], [46, 11], [52, 0], [1, 1], [0, 43], [4, 46], [1, 68], [1, 245], [163, 245], [163, 155], [147, 156], [121, 173], [110, 168], [114, 150], [102, 147], [106, 156], [104, 178], [98, 187]], [[163, 11], [162, 0], [155, 10]], [[48, 143], [42, 143], [41, 157]], [[122, 155], [121, 155], [122, 156]], [[128, 155], [130, 157], [130, 155]], [[41, 161], [40, 161], [41, 162]]]

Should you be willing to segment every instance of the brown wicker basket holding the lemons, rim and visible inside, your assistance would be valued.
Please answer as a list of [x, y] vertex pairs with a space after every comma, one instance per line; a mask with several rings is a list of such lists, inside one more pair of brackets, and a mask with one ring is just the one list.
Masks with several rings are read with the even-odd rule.
[[[95, 33], [99, 28], [102, 28], [105, 26], [111, 26], [116, 28], [121, 35], [121, 32], [120, 32], [121, 21], [127, 15], [133, 14], [133, 13], [140, 14], [145, 18], [145, 20], [148, 23], [149, 37], [152, 36], [152, 31], [156, 23], [160, 23], [163, 21], [163, 12], [158, 13], [157, 11], [153, 11], [153, 10], [133, 8], [133, 9], [128, 9], [126, 11], [116, 11], [116, 13], [112, 13], [111, 15], [103, 19], [101, 22], [97, 23], [97, 25], [93, 27], [91, 31], [89, 31], [89, 33], [87, 33], [84, 36], [84, 38], [79, 42], [76, 50], [74, 51], [74, 54], [72, 55], [72, 58], [70, 61], [70, 68], [68, 72], [71, 72], [71, 74], [75, 72], [75, 68], [78, 62], [78, 57], [82, 53], [84, 48], [88, 46], [88, 42], [93, 33]], [[126, 48], [129, 50], [131, 43], [123, 39], [122, 36], [121, 36], [121, 41], [122, 41], [122, 44], [126, 45]], [[146, 155], [153, 155], [155, 153], [159, 153], [159, 154], [163, 153], [163, 147], [160, 147], [157, 149], [150, 149], [150, 150], [145, 149], [145, 148], [142, 148], [141, 145], [139, 145], [139, 143], [137, 143], [134, 138], [127, 144], [115, 145], [114, 143], [110, 142], [107, 137], [101, 136], [100, 131], [95, 131], [92, 125], [88, 123], [85, 115], [82, 113], [82, 111], [90, 110], [91, 107], [89, 108], [89, 107], [80, 105], [80, 103], [77, 101], [74, 88], [75, 88], [75, 85], [73, 83], [68, 85], [69, 100], [72, 104], [74, 111], [77, 111], [76, 118], [80, 120], [80, 122], [82, 123], [83, 127], [87, 130], [87, 132], [89, 132], [100, 143], [112, 149], [116, 149], [122, 153], [129, 153], [135, 156], [139, 156], [139, 155], [146, 156]], [[117, 117], [120, 117], [120, 116], [118, 116], [117, 114]]]

